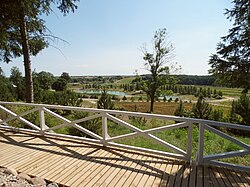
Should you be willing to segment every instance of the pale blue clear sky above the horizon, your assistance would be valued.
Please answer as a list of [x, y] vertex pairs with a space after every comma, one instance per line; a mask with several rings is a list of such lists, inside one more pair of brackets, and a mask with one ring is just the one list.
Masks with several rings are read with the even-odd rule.
[[[32, 57], [32, 70], [74, 76], [148, 73], [141, 47], [152, 51], [155, 31], [166, 28], [182, 67], [180, 74], [207, 75], [209, 56], [232, 23], [224, 15], [228, 0], [80, 0], [74, 13], [43, 16], [55, 40]], [[166, 64], [168, 65], [168, 64]], [[22, 58], [1, 62], [6, 76]]]

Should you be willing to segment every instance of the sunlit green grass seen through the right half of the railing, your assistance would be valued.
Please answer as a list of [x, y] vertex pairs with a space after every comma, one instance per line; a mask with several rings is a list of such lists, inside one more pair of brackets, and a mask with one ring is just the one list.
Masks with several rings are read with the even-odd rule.
[[[124, 120], [124, 119], [123, 119]], [[125, 119], [126, 120], [126, 119]], [[129, 120], [129, 119], [127, 119]], [[164, 126], [168, 124], [173, 124], [172, 121], [163, 121], [159, 119], [149, 119], [143, 121], [143, 119], [139, 119], [138, 121], [135, 121], [134, 119], [130, 119], [130, 123], [136, 126], [140, 129], [151, 129], [158, 126]], [[128, 130], [127, 128], [114, 124], [113, 122], [108, 123], [108, 132], [111, 137], [131, 133], [131, 130]], [[154, 133], [155, 136], [158, 138], [171, 143], [175, 145], [178, 148], [181, 148], [182, 150], [186, 151], [187, 148], [187, 142], [188, 142], [188, 130], [187, 128], [179, 128], [174, 130], [166, 130], [158, 133]], [[195, 159], [196, 153], [198, 150], [198, 137], [199, 137], [199, 129], [198, 126], [194, 126], [193, 128], [193, 141], [192, 141], [192, 159]], [[236, 139], [246, 143], [250, 144], [250, 137], [235, 137]], [[167, 151], [167, 152], [173, 152], [172, 150], [163, 147], [160, 144], [157, 144], [152, 139], [148, 139], [144, 136], [137, 136], [134, 138], [125, 138], [122, 140], [116, 141], [117, 143], [125, 144], [125, 145], [131, 145], [131, 146], [137, 146], [137, 147], [143, 147], [143, 148], [149, 148], [154, 150], [160, 150], [160, 151]], [[231, 152], [240, 150], [241, 147], [237, 146], [236, 144], [210, 132], [205, 131], [204, 135], [204, 155], [213, 155], [218, 153], [224, 153], [224, 152]], [[222, 161], [233, 163], [233, 164], [239, 164], [244, 166], [250, 166], [250, 155], [244, 156], [244, 157], [233, 157], [233, 158], [227, 158], [222, 159]]]

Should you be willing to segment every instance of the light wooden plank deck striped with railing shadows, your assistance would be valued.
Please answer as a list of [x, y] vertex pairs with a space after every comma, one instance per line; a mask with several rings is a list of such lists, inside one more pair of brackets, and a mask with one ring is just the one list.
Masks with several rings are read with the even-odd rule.
[[0, 166], [62, 186], [250, 186], [250, 173], [0, 130]]

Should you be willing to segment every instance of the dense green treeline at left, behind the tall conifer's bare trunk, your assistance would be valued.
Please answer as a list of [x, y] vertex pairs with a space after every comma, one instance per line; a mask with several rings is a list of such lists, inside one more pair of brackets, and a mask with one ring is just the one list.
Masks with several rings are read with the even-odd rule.
[[[67, 89], [71, 82], [68, 73], [63, 72], [60, 77], [45, 71], [33, 72], [34, 100], [36, 103], [80, 106], [81, 94]], [[17, 67], [11, 69], [7, 78], [0, 68], [0, 100], [25, 101], [25, 79]]]

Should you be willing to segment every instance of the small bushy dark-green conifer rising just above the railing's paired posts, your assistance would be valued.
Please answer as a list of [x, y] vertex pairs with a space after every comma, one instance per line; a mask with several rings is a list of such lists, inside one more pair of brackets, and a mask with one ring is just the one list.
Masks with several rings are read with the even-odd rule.
[[209, 119], [212, 107], [205, 102], [204, 97], [200, 95], [197, 103], [193, 105], [192, 112], [195, 118]]

